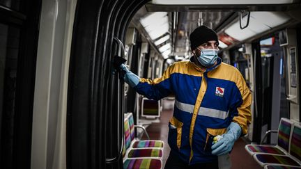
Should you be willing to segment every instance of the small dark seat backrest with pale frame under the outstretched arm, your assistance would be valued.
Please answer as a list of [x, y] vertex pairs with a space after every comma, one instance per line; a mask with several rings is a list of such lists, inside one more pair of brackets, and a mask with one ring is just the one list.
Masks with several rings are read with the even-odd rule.
[[142, 98], [141, 101], [141, 116], [146, 118], [160, 117], [160, 101]]

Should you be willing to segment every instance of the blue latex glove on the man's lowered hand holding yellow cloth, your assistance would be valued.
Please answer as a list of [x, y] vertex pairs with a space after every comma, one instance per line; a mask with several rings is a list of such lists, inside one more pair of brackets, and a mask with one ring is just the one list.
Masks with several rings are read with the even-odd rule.
[[227, 132], [222, 135], [223, 138], [211, 146], [211, 153], [217, 156], [229, 153], [232, 150], [234, 142], [240, 137], [241, 131], [242, 129], [239, 124], [231, 122], [227, 128]]

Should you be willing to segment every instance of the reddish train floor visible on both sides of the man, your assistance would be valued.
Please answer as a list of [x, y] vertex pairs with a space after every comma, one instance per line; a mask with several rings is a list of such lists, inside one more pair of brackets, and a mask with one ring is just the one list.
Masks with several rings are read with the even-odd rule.
[[[146, 131], [148, 131], [148, 134], [151, 139], [155, 140], [163, 140], [164, 141], [164, 151], [163, 151], [163, 166], [165, 166], [165, 163], [167, 161], [167, 158], [169, 156], [170, 148], [167, 143], [167, 137], [168, 137], [168, 123], [169, 119], [172, 117], [173, 109], [164, 109], [161, 113], [160, 122], [153, 122], [151, 125], [149, 125], [146, 128]], [[146, 137], [143, 136], [142, 139], [145, 139]], [[232, 161], [232, 167], [233, 169], [257, 169], [261, 168], [261, 166], [254, 161], [252, 156], [250, 156], [246, 150], [245, 150], [245, 143], [242, 138], [239, 138], [236, 143], [234, 144], [233, 150], [231, 152], [231, 161]]]

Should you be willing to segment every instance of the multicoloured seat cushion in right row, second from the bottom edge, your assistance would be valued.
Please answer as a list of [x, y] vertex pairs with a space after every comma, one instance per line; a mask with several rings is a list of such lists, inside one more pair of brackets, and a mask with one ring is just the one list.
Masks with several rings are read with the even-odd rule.
[[263, 166], [265, 163], [279, 163], [288, 166], [300, 166], [299, 163], [291, 157], [278, 154], [255, 154], [254, 159], [256, 159], [261, 166]]

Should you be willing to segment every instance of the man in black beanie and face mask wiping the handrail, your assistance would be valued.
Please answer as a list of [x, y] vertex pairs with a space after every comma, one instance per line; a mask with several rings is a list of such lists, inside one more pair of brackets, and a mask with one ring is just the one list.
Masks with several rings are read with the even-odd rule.
[[[215, 31], [199, 26], [190, 43], [190, 61], [174, 63], [160, 78], [139, 78], [125, 65], [121, 68], [125, 82], [148, 99], [176, 97], [165, 168], [218, 168], [217, 156], [231, 152], [247, 134], [252, 96], [240, 72], [217, 56]], [[223, 138], [213, 144], [217, 135]]]

